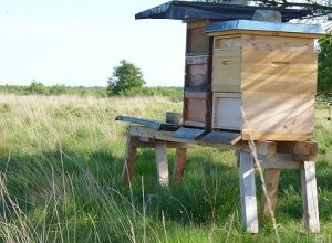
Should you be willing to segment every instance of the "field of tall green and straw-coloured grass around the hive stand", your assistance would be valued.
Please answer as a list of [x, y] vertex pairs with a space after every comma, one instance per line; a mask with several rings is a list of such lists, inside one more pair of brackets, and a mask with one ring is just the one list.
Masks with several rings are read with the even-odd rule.
[[[189, 149], [184, 181], [156, 183], [155, 154], [138, 151], [132, 187], [121, 183], [127, 124], [117, 115], [164, 120], [181, 102], [0, 95], [0, 239], [2, 242], [276, 242], [241, 226], [232, 151]], [[281, 242], [332, 241], [332, 123], [319, 106], [315, 140], [321, 233], [303, 229], [300, 173], [284, 170], [277, 205]], [[175, 156], [168, 152], [169, 168]], [[258, 178], [258, 177], [257, 177]], [[258, 197], [261, 194], [258, 183]], [[158, 194], [144, 211], [143, 194]]]

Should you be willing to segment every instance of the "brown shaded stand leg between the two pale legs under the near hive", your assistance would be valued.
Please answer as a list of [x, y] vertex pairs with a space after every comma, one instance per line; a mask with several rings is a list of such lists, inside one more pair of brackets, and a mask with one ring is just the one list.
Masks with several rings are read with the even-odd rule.
[[[280, 169], [266, 169], [264, 182], [267, 187], [267, 194], [262, 194], [261, 212], [264, 216], [271, 219], [274, 216], [274, 210], [277, 204], [278, 187], [280, 179]], [[267, 198], [268, 197], [268, 198]], [[269, 201], [270, 204], [269, 204]]]

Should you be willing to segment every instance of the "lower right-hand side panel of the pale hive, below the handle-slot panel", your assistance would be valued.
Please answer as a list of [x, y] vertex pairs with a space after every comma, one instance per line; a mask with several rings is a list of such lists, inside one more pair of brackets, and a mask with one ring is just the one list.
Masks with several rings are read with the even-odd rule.
[[245, 92], [242, 107], [243, 140], [303, 141], [312, 138], [314, 96]]

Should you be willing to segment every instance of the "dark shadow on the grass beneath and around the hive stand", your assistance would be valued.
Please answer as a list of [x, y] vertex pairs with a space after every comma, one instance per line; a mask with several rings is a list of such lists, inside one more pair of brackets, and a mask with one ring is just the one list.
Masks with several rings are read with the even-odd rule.
[[[224, 225], [235, 214], [236, 228], [240, 231], [238, 169], [232, 154], [227, 152], [189, 151], [184, 180], [175, 183], [170, 178], [168, 189], [157, 183], [154, 149], [138, 150], [131, 188], [121, 182], [123, 157], [106, 150], [84, 155], [77, 155], [74, 151], [63, 154], [44, 151], [29, 156], [11, 155], [9, 162], [8, 157], [1, 156], [0, 170], [6, 175], [6, 186], [10, 194], [14, 197], [25, 214], [35, 213], [38, 207], [42, 208], [50, 200], [52, 187], [61, 186], [63, 175], [72, 180], [76, 190], [82, 189], [73, 196], [77, 204], [75, 209], [87, 214], [102, 214], [98, 210], [103, 210], [105, 205], [101, 205], [97, 200], [96, 202], [91, 200], [93, 197], [86, 197], [85, 194], [91, 192], [79, 184], [89, 183], [84, 177], [92, 175], [93, 180], [105, 194], [114, 194], [116, 191], [115, 201], [121, 207], [128, 207], [123, 203], [123, 198], [125, 198], [137, 210], [142, 210], [143, 193], [158, 194], [156, 207], [147, 214], [152, 219], [160, 220], [164, 215], [166, 220], [180, 225], [210, 225], [216, 222]], [[168, 154], [169, 171], [173, 168], [174, 154], [174, 151]], [[332, 194], [329, 193], [332, 189], [331, 165], [318, 163], [317, 175], [319, 196], [322, 198], [320, 218], [321, 222], [328, 222], [332, 216], [330, 209]], [[258, 176], [257, 189], [258, 202], [260, 202], [261, 187]], [[6, 209], [2, 208], [2, 211], [4, 212]], [[281, 221], [290, 219], [300, 221], [302, 214], [300, 171], [283, 170], [278, 196], [277, 222], [279, 218], [282, 219]]]

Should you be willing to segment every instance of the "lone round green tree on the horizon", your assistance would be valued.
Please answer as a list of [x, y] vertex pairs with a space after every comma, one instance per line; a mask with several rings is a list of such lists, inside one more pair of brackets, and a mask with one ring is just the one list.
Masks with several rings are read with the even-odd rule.
[[133, 88], [142, 88], [145, 84], [142, 71], [133, 63], [122, 60], [120, 65], [114, 67], [112, 77], [107, 81], [107, 94], [125, 95]]

